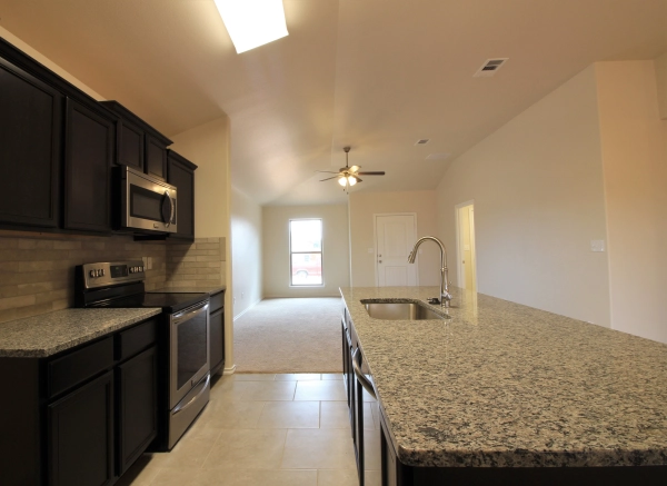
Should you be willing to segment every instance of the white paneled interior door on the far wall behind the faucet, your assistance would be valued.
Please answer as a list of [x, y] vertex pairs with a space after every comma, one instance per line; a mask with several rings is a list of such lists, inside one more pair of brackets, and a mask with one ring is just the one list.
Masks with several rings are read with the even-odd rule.
[[417, 241], [416, 216], [377, 215], [376, 239], [378, 287], [417, 286], [417, 264], [408, 264], [408, 255]]

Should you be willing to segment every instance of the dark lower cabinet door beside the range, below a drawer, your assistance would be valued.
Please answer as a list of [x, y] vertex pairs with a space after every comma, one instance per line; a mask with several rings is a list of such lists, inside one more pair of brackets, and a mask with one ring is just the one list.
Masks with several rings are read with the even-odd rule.
[[117, 368], [119, 474], [132, 465], [158, 434], [157, 359], [153, 346]]

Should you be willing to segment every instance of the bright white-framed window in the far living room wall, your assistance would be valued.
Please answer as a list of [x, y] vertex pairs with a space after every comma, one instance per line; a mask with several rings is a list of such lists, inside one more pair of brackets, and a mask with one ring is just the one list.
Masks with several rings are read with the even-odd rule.
[[322, 220], [289, 220], [290, 285], [322, 285]]

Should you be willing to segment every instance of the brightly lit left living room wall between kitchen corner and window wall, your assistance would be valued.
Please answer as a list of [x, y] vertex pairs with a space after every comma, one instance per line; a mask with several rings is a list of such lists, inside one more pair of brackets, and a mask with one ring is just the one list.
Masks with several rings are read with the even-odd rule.
[[261, 300], [261, 206], [231, 189], [233, 318]]

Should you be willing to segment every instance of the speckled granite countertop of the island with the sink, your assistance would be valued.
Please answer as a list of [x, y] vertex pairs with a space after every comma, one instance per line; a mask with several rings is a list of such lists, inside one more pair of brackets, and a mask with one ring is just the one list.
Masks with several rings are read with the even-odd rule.
[[451, 319], [360, 302], [437, 294], [341, 289], [401, 463], [667, 465], [667, 345], [457, 288]]

